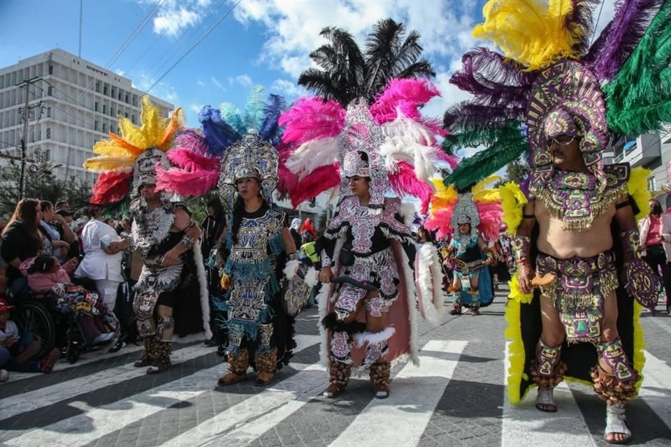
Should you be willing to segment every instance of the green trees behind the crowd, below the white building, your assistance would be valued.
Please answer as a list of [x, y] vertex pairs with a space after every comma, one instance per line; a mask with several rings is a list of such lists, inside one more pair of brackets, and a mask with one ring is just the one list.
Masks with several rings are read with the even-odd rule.
[[[89, 203], [91, 186], [72, 175], [67, 180], [57, 179], [52, 173], [52, 163], [40, 160], [33, 169], [26, 170], [25, 197], [49, 200], [67, 200], [76, 210]], [[32, 172], [31, 172], [32, 171]], [[19, 198], [21, 164], [10, 160], [0, 169], [0, 214], [12, 214]]]

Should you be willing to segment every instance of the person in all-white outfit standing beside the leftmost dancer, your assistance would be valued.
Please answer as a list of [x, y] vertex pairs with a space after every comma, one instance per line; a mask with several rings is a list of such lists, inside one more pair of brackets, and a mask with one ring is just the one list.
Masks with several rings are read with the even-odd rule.
[[95, 211], [94, 219], [89, 220], [82, 230], [84, 258], [75, 271], [75, 277], [92, 279], [98, 293], [108, 309], [114, 309], [122, 276], [121, 251], [113, 251], [111, 242], [121, 240], [115, 228], [103, 221], [102, 210]]

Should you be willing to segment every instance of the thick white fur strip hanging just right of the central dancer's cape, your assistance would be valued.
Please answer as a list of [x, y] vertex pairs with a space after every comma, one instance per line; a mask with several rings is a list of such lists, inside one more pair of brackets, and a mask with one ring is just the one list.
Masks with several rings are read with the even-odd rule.
[[[417, 286], [421, 292], [424, 318], [434, 326], [440, 324], [443, 312], [442, 269], [438, 251], [431, 242], [421, 244], [417, 250]], [[431, 299], [431, 302], [429, 302]]]

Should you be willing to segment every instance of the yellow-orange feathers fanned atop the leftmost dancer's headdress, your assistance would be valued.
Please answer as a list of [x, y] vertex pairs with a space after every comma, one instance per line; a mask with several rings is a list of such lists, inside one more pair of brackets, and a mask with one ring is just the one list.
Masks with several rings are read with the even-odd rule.
[[161, 110], [149, 100], [142, 98], [142, 113], [138, 127], [127, 118], [119, 117], [121, 135], [110, 132], [108, 140], [101, 140], [93, 147], [99, 156], [84, 162], [84, 168], [94, 172], [130, 172], [135, 159], [150, 147], [167, 151], [175, 134], [185, 122], [182, 108], [174, 110], [170, 118], [161, 118]]

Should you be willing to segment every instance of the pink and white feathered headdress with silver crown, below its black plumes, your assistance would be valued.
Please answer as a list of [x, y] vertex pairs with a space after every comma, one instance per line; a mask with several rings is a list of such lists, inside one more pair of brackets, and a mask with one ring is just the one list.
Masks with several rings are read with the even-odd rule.
[[[338, 186], [341, 194], [349, 193], [342, 184], [346, 171], [361, 167], [353, 153], [359, 149], [356, 152], [366, 154], [371, 179], [379, 180], [371, 191], [373, 206], [380, 205], [377, 196], [391, 189], [398, 196], [420, 198], [426, 212], [433, 193], [428, 179], [437, 172], [435, 161], [456, 165], [456, 157], [440, 151], [436, 141], [443, 135], [440, 126], [419, 112], [438, 95], [426, 80], [394, 79], [370, 106], [355, 100], [345, 110], [335, 101], [299, 98], [280, 117], [285, 126], [280, 193], [288, 195], [294, 207]], [[363, 145], [357, 148], [355, 141]]]

